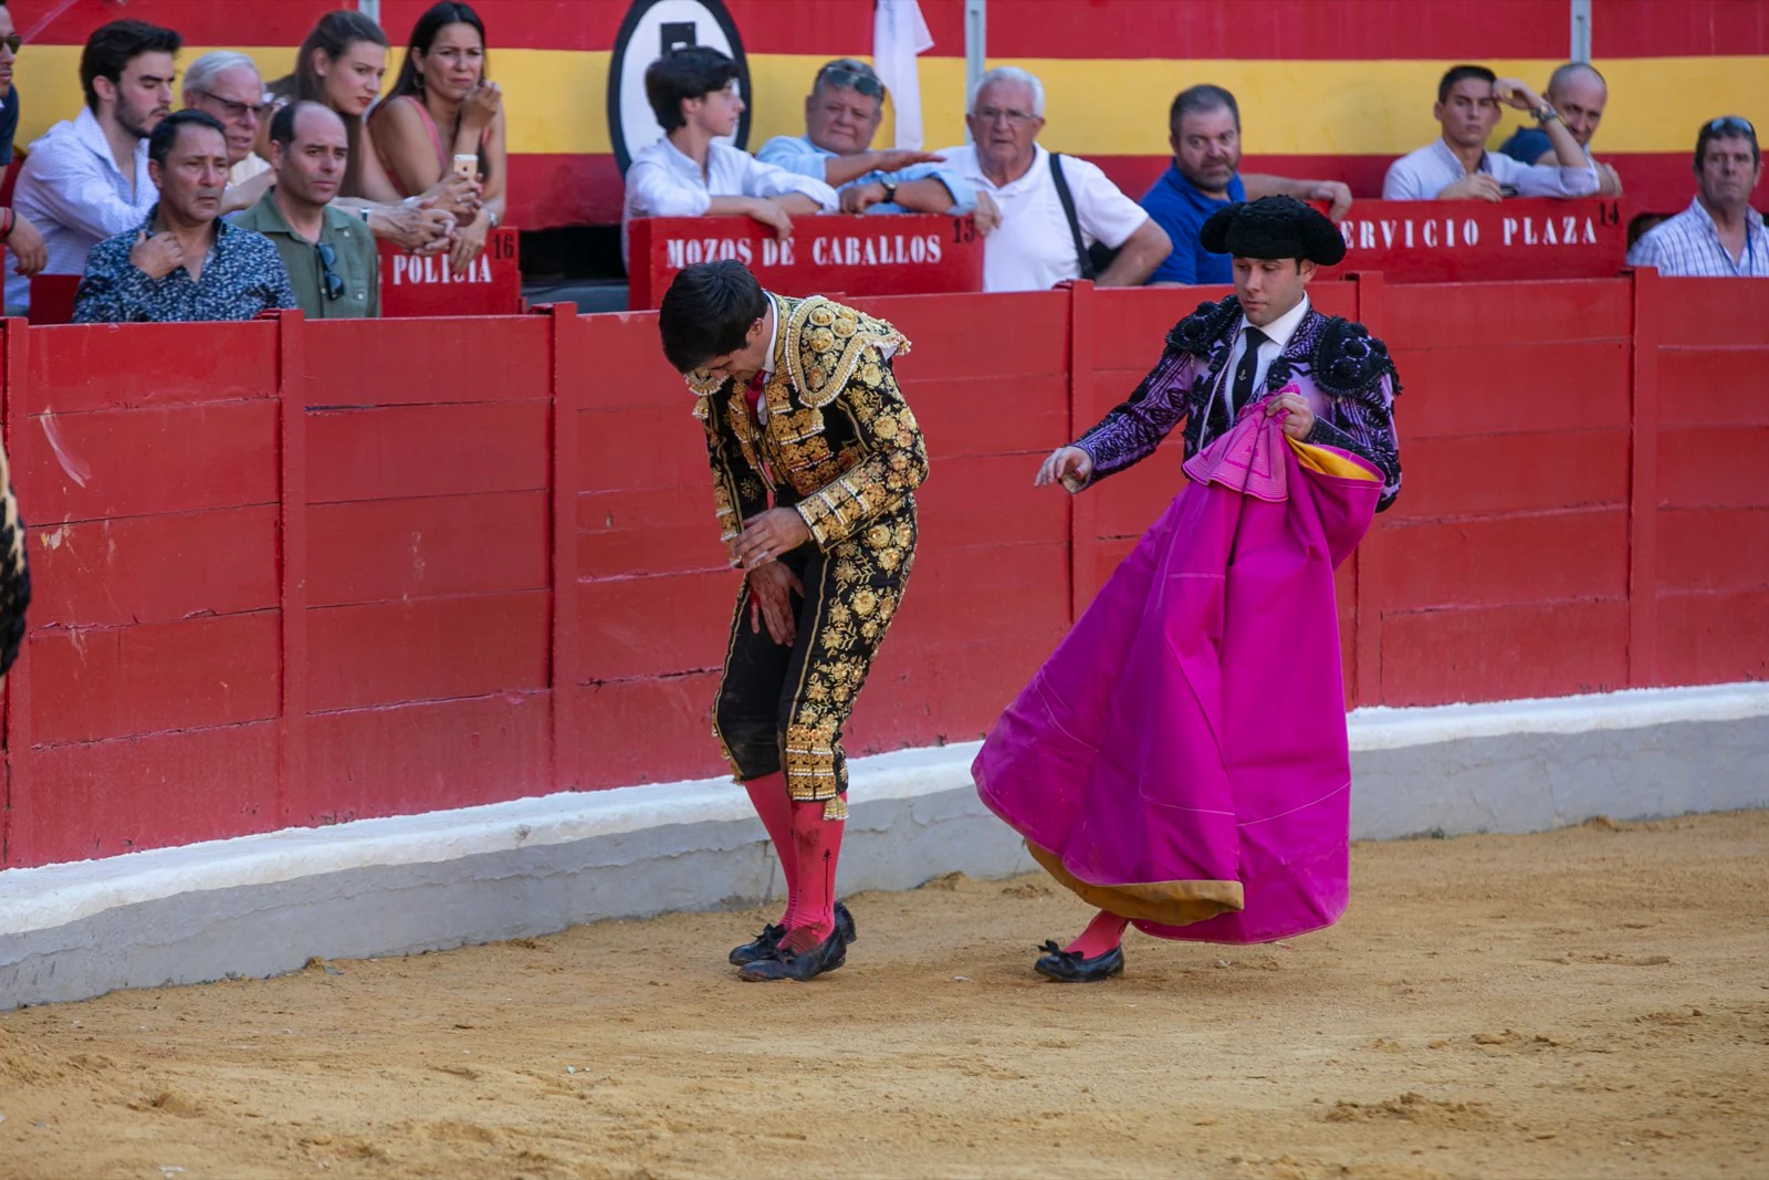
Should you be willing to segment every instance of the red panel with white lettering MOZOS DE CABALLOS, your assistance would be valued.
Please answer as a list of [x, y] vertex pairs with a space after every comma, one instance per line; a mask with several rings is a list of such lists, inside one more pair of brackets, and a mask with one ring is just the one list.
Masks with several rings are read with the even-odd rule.
[[639, 218], [626, 226], [628, 308], [656, 308], [685, 265], [736, 258], [784, 295], [916, 295], [984, 288], [971, 218], [793, 218], [785, 241], [752, 218]]

